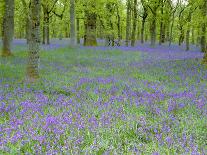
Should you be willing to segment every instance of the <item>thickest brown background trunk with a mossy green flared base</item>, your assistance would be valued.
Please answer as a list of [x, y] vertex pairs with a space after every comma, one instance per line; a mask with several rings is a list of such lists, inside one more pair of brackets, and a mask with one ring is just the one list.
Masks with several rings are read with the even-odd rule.
[[96, 41], [96, 18], [95, 13], [85, 12], [85, 36], [84, 36], [84, 46], [97, 46]]

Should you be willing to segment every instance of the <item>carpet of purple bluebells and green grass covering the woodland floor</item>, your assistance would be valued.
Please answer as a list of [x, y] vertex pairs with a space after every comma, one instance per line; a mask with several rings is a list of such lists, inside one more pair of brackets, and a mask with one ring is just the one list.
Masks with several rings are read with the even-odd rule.
[[192, 46], [27, 46], [0, 58], [0, 154], [207, 154], [207, 67]]

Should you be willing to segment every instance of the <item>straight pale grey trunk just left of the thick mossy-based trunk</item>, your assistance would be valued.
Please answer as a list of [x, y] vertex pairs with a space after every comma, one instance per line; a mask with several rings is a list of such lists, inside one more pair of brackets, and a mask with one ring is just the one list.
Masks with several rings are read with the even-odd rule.
[[75, 30], [75, 0], [70, 0], [70, 43], [71, 46], [76, 45]]

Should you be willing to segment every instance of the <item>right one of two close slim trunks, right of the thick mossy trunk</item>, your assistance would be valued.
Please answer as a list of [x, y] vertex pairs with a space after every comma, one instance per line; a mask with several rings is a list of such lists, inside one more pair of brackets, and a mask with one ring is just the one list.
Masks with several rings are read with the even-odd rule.
[[135, 46], [136, 28], [137, 28], [137, 0], [134, 0], [134, 19], [133, 19], [131, 46]]

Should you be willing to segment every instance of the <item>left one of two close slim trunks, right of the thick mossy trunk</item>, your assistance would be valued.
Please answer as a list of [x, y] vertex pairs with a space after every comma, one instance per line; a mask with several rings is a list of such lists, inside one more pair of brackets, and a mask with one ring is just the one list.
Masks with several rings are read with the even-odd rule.
[[127, 0], [127, 19], [126, 19], [126, 46], [129, 46], [131, 31], [131, 0]]

